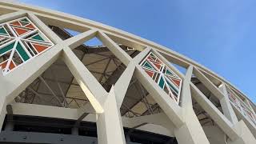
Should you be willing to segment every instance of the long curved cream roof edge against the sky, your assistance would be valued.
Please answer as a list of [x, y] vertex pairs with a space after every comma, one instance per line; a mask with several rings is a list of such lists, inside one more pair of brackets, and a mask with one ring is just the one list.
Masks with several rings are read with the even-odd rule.
[[254, 107], [256, 107], [254, 102], [252, 102], [250, 100], [250, 98], [248, 98], [246, 96], [246, 94], [242, 93], [241, 90], [239, 90], [236, 86], [233, 86], [225, 78], [222, 78], [218, 74], [215, 74], [212, 70], [209, 70], [205, 66], [202, 66], [201, 64], [199, 64], [198, 62], [195, 62], [194, 60], [192, 60], [190, 58], [187, 58], [186, 56], [184, 56], [182, 54], [178, 54], [174, 50], [170, 50], [166, 46], [159, 45], [158, 43], [151, 42], [150, 40], [147, 40], [145, 38], [141, 38], [141, 37], [139, 37], [135, 34], [130, 34], [126, 31], [124, 31], [124, 30], [119, 30], [117, 28], [114, 28], [112, 26], [107, 26], [107, 25], [102, 24], [100, 22], [94, 22], [90, 19], [81, 18], [81, 17], [78, 17], [78, 16], [74, 16], [72, 14], [66, 14], [66, 13], [63, 13], [63, 12], [60, 12], [60, 11], [57, 11], [57, 10], [50, 10], [50, 9], [42, 8], [42, 7], [39, 7], [39, 6], [30, 6], [30, 5], [24, 4], [22, 2], [14, 2], [14, 1], [8, 1], [8, 0], [0, 0], [0, 5], [5, 6], [6, 9], [8, 9], [8, 7], [10, 7], [12, 9], [17, 9], [17, 10], [28, 10], [28, 11], [32, 11], [32, 12], [38, 13], [38, 14], [51, 15], [51, 16], [54, 16], [54, 17], [57, 17], [57, 18], [63, 18], [63, 19], [66, 19], [66, 20], [78, 22], [78, 23], [81, 23], [81, 24], [84, 24], [84, 25], [87, 25], [87, 26], [92, 26], [92, 27], [97, 28], [99, 30], [104, 30], [104, 31], [110, 32], [111, 34], [117, 34], [117, 35], [122, 36], [122, 37], [130, 38], [131, 40], [134, 40], [135, 42], [138, 42], [138, 44], [141, 44], [142, 46], [151, 46], [151, 47], [159, 50], [160, 52], [162, 52], [164, 54], [170, 54], [172, 57], [175, 57], [175, 58], [185, 62], [187, 65], [196, 66], [198, 69], [206, 72], [206, 74], [210, 74], [210, 76], [212, 76], [214, 78], [217, 78], [219, 81], [225, 82], [227, 85], [229, 85], [234, 90], [236, 90], [236, 92], [238, 92], [238, 94], [241, 94], [244, 98], [248, 99], [254, 105]]

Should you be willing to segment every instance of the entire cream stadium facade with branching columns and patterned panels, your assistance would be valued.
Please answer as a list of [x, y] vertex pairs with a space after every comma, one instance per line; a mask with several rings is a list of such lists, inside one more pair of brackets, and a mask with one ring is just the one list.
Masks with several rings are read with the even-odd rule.
[[54, 10], [0, 14], [1, 143], [256, 143], [254, 102], [190, 58]]

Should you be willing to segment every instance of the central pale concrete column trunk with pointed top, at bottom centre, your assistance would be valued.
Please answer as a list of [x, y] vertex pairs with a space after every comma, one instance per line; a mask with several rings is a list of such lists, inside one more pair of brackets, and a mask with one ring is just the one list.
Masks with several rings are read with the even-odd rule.
[[98, 144], [126, 144], [114, 86], [106, 97], [104, 112], [97, 118]]

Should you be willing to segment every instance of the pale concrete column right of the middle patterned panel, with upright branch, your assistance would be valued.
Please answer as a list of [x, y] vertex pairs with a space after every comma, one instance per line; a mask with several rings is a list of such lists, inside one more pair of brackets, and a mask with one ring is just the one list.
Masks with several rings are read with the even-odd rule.
[[210, 144], [204, 133], [198, 117], [194, 114], [192, 98], [190, 93], [190, 80], [193, 72], [193, 66], [190, 66], [182, 83], [182, 116], [184, 124], [175, 129], [175, 136], [179, 144]]

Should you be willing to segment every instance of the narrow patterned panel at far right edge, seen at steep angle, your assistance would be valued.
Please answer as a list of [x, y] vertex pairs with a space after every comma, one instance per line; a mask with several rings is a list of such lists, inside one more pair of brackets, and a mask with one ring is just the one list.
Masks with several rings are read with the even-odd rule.
[[233, 94], [230, 90], [226, 90], [228, 97], [230, 99], [230, 103], [238, 108], [238, 110], [247, 118], [250, 118], [252, 122], [256, 125], [256, 117], [254, 113], [250, 110], [248, 106], [241, 99], [237, 98], [235, 94]]

